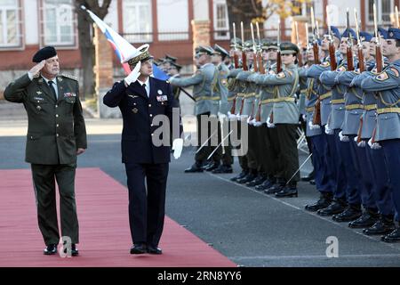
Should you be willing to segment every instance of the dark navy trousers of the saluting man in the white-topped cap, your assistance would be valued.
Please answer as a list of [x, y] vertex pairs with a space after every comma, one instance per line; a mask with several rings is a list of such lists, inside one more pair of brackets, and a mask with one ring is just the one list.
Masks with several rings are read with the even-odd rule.
[[168, 163], [125, 164], [133, 243], [144, 242], [156, 247], [160, 241], [164, 228], [168, 169]]

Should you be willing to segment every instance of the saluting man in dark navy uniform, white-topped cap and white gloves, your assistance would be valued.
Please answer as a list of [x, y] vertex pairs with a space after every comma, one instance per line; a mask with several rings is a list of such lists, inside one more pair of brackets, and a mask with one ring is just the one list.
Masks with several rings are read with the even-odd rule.
[[179, 104], [168, 82], [150, 77], [152, 59], [148, 48], [127, 56], [131, 74], [103, 98], [108, 107], [119, 107], [124, 120], [121, 151], [129, 190], [131, 254], [162, 254], [158, 242], [164, 228], [170, 135], [175, 159], [183, 147]]

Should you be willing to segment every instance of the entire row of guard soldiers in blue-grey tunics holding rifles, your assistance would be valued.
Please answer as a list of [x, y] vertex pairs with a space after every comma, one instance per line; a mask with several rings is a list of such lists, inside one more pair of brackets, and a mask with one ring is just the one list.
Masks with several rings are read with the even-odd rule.
[[[218, 48], [202, 46], [196, 53], [196, 74], [171, 80], [172, 85], [194, 86], [198, 122], [202, 115], [219, 115], [228, 118], [229, 124], [248, 124], [248, 136], [242, 137], [248, 151], [238, 158], [242, 172], [231, 180], [276, 197], [297, 197], [296, 139], [303, 113], [320, 192], [320, 198], [306, 209], [348, 222], [349, 227], [364, 228], [367, 235], [383, 235], [384, 241], [400, 241], [400, 228], [395, 225], [400, 220], [400, 175], [396, 174], [400, 166], [400, 29], [379, 28], [372, 37], [366, 32], [356, 35], [352, 28], [340, 35], [338, 28], [331, 27], [322, 40], [314, 41], [317, 51], [308, 45], [303, 57], [306, 64], [301, 67], [300, 50], [292, 43], [261, 40], [262, 61], [254, 57], [257, 47], [252, 41], [234, 38], [231, 43], [230, 54], [244, 55], [240, 68], [228, 71], [222, 63], [212, 64]], [[336, 53], [329, 53], [331, 46]], [[382, 70], [380, 52], [385, 56]], [[363, 58], [358, 58], [360, 54]], [[305, 98], [304, 107], [296, 94]], [[222, 152], [230, 159], [222, 159], [222, 165], [220, 155], [206, 164], [212, 146], [203, 144], [199, 150], [196, 163], [185, 172], [231, 170], [229, 145]]]

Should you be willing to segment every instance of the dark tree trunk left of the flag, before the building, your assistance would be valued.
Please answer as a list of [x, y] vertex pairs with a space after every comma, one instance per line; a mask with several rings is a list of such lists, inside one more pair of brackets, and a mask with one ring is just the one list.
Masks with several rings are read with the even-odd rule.
[[92, 37], [92, 19], [87, 12], [81, 9], [81, 5], [84, 5], [87, 9], [94, 12], [101, 20], [106, 17], [108, 13], [108, 7], [112, 0], [103, 0], [102, 4], [99, 4], [99, 0], [76, 0], [75, 7], [77, 13], [78, 22], [78, 36], [79, 36], [79, 48], [81, 53], [81, 62], [83, 70], [83, 94], [86, 95], [94, 94], [94, 45]]

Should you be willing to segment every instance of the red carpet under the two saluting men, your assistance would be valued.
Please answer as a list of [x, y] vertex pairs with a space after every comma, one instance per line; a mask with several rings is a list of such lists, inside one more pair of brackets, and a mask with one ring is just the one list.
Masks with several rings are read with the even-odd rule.
[[99, 168], [76, 171], [80, 256], [44, 256], [30, 170], [0, 170], [0, 181], [0, 266], [236, 266], [168, 217], [164, 254], [130, 255], [126, 188]]

